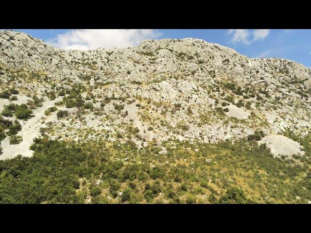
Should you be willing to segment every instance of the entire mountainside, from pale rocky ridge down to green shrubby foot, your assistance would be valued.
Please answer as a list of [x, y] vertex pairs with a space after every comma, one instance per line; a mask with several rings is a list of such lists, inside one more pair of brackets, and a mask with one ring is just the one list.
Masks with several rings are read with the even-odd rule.
[[311, 203], [311, 69], [200, 39], [0, 31], [0, 203]]

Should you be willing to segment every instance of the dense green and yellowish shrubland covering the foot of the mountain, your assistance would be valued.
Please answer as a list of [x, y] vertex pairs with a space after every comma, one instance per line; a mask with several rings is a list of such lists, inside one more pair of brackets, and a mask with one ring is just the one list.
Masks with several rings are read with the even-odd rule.
[[160, 154], [155, 143], [138, 150], [130, 141], [43, 137], [31, 146], [33, 157], [0, 161], [0, 203], [308, 202], [310, 146], [307, 156], [277, 159], [255, 140], [169, 141]]

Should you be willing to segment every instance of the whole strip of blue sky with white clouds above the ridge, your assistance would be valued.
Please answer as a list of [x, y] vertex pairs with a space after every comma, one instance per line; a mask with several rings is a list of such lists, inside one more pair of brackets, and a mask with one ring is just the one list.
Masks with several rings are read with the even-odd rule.
[[193, 37], [252, 58], [279, 57], [311, 67], [311, 30], [16, 30], [63, 49], [136, 46], [144, 39]]

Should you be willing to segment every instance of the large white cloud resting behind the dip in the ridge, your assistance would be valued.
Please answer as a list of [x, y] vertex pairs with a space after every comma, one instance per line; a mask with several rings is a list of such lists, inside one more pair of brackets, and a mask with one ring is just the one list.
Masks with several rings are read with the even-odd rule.
[[65, 50], [92, 50], [132, 47], [159, 35], [158, 31], [152, 29], [79, 29], [58, 34], [47, 42]]

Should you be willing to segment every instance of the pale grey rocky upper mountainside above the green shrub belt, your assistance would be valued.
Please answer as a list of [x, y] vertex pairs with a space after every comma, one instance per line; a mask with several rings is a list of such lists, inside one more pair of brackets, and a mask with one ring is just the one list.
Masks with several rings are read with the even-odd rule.
[[[30, 119], [30, 139], [44, 128], [60, 140], [122, 138], [141, 147], [152, 140], [213, 143], [258, 132], [307, 135], [311, 127], [310, 68], [286, 59], [248, 58], [200, 39], [83, 51], [1, 31], [0, 83], [2, 91], [14, 87], [19, 93], [17, 100], [2, 98], [0, 110], [34, 95], [43, 98], [37, 121]], [[67, 111], [65, 117], [43, 114], [51, 101]], [[9, 148], [5, 140], [2, 148]], [[2, 156], [16, 155], [14, 150], [4, 149]]]

